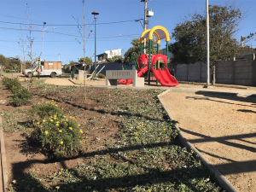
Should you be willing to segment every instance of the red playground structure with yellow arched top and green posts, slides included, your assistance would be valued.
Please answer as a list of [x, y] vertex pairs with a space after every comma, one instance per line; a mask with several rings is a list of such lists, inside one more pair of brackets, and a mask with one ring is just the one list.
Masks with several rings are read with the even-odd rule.
[[[157, 44], [157, 54], [151, 55], [151, 44], [153, 40], [153, 34], [156, 38], [156, 44]], [[148, 55], [143, 54], [143, 42], [144, 38], [148, 38], [149, 45], [148, 45]], [[166, 55], [162, 55], [159, 53], [159, 44], [160, 39], [166, 38]], [[138, 66], [137, 67], [137, 77], [141, 77], [143, 73], [148, 72], [148, 84], [150, 84], [150, 72], [154, 73], [154, 77], [162, 86], [176, 86], [178, 85], [177, 79], [173, 79], [172, 75], [169, 73], [169, 70], [167, 68], [167, 59], [168, 59], [168, 42], [170, 41], [169, 32], [166, 30], [163, 26], [154, 26], [152, 29], [147, 29], [143, 31], [140, 37], [140, 44], [141, 44], [141, 55], [138, 58]], [[164, 69], [161, 70], [160, 68], [160, 60], [164, 61]], [[157, 62], [156, 66], [154, 64]], [[146, 67], [143, 67], [143, 64]], [[156, 69], [154, 69], [154, 67]], [[131, 84], [133, 80], [132, 79], [120, 79], [118, 84]]]

